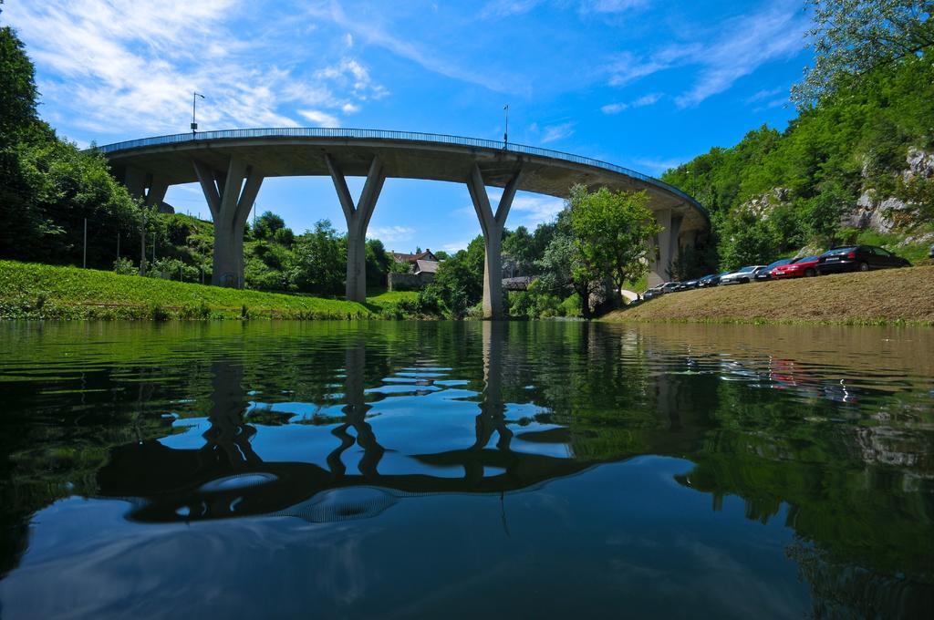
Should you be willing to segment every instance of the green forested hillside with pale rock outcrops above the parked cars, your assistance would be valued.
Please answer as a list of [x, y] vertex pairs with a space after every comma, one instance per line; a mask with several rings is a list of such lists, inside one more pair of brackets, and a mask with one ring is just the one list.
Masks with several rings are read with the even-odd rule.
[[785, 131], [760, 127], [666, 172], [714, 224], [685, 275], [854, 242], [923, 259], [934, 243], [931, 102], [931, 54], [913, 54], [805, 106]]

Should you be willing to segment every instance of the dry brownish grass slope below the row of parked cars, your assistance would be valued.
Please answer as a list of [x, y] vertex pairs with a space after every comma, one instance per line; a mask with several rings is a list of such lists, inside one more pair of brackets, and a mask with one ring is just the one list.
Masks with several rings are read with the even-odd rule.
[[688, 290], [604, 320], [934, 325], [934, 267]]

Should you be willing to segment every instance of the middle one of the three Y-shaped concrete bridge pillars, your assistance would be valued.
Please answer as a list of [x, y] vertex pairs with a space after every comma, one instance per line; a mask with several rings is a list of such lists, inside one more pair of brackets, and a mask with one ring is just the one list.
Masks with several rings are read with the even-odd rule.
[[378, 157], [373, 158], [360, 201], [355, 205], [347, 189], [347, 179], [337, 163], [330, 155], [325, 155], [324, 159], [328, 163], [334, 190], [337, 191], [337, 199], [341, 202], [347, 220], [347, 301], [363, 303], [366, 301], [366, 229], [370, 225], [370, 218], [373, 218], [379, 192], [386, 182], [386, 172], [383, 170], [383, 162]]

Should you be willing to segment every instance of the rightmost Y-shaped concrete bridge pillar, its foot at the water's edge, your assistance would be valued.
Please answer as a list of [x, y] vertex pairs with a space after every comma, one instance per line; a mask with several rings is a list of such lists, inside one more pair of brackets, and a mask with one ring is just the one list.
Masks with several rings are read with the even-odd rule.
[[509, 215], [509, 207], [516, 197], [519, 176], [522, 169], [509, 179], [502, 190], [500, 204], [496, 213], [489, 204], [487, 186], [483, 183], [480, 167], [474, 163], [471, 175], [467, 177], [467, 190], [474, 203], [476, 217], [480, 220], [483, 231], [485, 259], [483, 264], [483, 317], [502, 318], [502, 229]]

